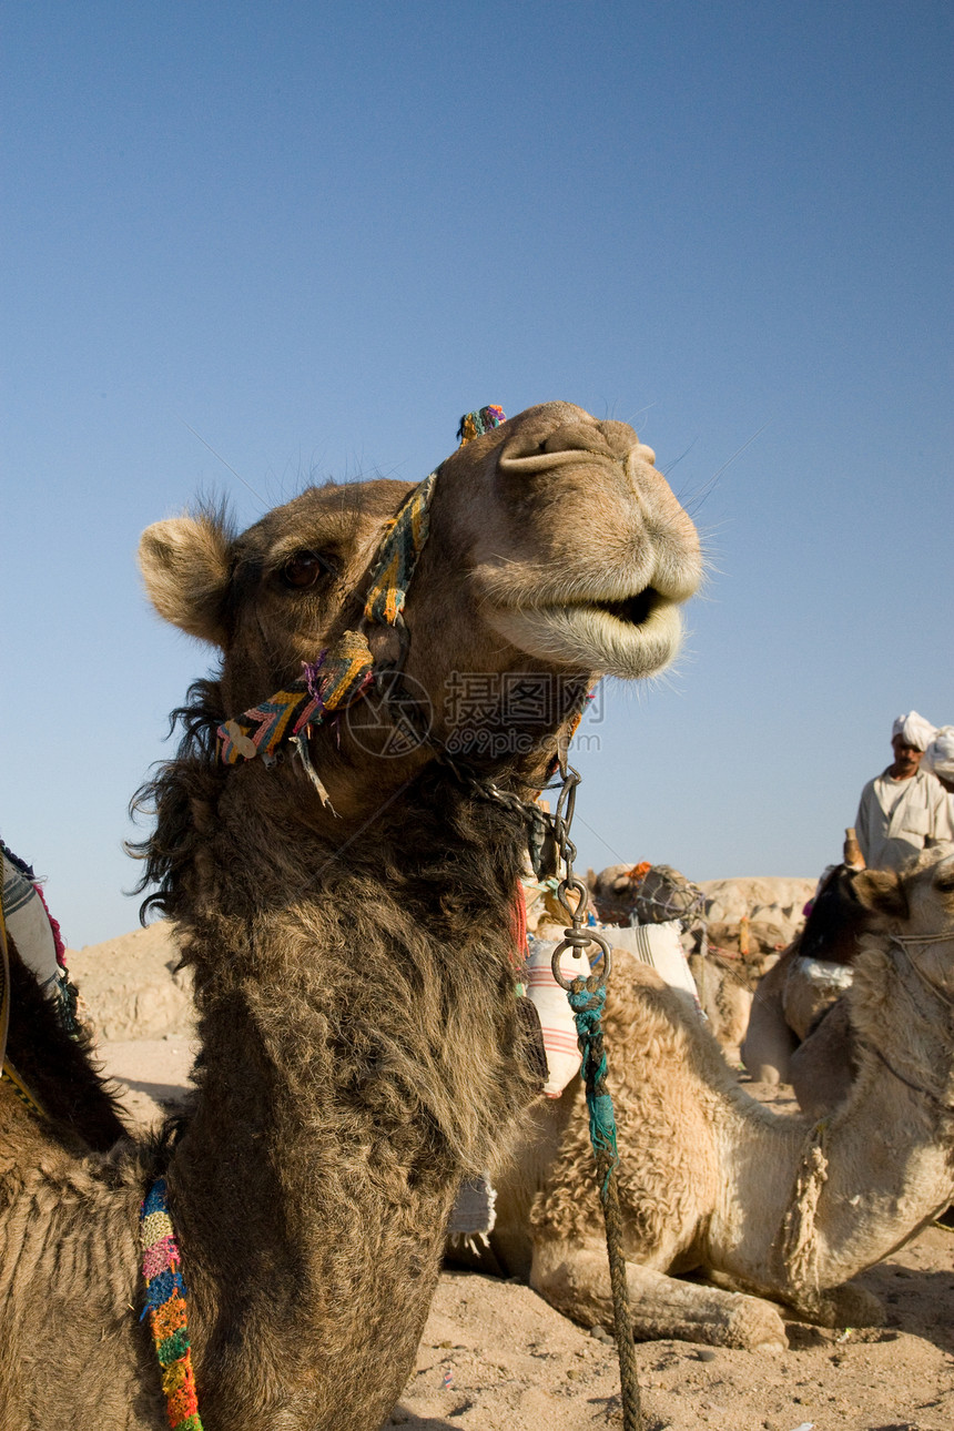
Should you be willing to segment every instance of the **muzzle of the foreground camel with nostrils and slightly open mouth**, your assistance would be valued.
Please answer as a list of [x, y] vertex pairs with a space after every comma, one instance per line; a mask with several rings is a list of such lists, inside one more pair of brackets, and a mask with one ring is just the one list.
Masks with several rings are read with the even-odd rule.
[[439, 472], [469, 602], [521, 657], [632, 680], [679, 647], [699, 582], [695, 528], [625, 422], [528, 408]]

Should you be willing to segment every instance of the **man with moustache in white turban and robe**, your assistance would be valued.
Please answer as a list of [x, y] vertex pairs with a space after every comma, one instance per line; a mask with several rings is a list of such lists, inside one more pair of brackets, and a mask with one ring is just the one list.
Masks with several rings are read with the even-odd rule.
[[917, 711], [898, 716], [891, 733], [894, 761], [861, 791], [855, 833], [868, 869], [898, 870], [933, 846], [954, 853], [951, 803], [941, 783], [921, 770], [935, 728]]

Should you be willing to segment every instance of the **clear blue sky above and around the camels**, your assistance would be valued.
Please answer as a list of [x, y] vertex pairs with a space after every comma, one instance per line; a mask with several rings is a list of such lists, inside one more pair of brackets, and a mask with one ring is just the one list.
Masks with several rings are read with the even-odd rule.
[[584, 866], [814, 876], [891, 720], [954, 721], [945, 0], [3, 29], [0, 833], [69, 943], [134, 926], [126, 804], [209, 664], [142, 528], [421, 478], [486, 402], [634, 422], [709, 551], [678, 667], [588, 728]]

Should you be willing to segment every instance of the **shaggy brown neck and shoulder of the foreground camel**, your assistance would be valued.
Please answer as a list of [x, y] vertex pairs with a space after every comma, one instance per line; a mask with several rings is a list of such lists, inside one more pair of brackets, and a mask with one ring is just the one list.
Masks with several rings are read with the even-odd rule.
[[[413, 1365], [461, 1179], [538, 1090], [509, 934], [525, 831], [432, 764], [343, 844], [296, 764], [223, 771], [190, 720], [144, 853], [195, 973], [197, 1089], [157, 1146], [112, 1159], [9, 1110], [26, 1153], [0, 1149], [0, 1425], [24, 1398], [44, 1428], [64, 1404], [90, 1431], [163, 1424], [133, 1308], [139, 1202], [164, 1172], [205, 1425], [370, 1431]], [[30, 1348], [70, 1315], [40, 1377]]]

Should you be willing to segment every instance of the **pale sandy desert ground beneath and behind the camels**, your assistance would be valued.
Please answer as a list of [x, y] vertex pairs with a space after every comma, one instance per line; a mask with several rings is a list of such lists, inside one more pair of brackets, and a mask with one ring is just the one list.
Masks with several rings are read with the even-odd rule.
[[[164, 993], [130, 993], [137, 979], [172, 979], [172, 960], [160, 957], [152, 932], [110, 942], [109, 954], [84, 950], [70, 960], [77, 975], [80, 967], [86, 975], [80, 989], [93, 1013], [96, 1003], [106, 1013], [110, 1000], [132, 999], [134, 1007], [139, 997], [143, 1010], [167, 1009], [167, 1017], [176, 1017], [182, 1005]], [[159, 976], [149, 975], [156, 960]], [[119, 1017], [112, 1026], [126, 1032]], [[100, 1045], [107, 1069], [129, 1090], [127, 1108], [137, 1122], [160, 1116], [163, 1105], [182, 1095], [193, 1052], [187, 1029]], [[781, 1115], [794, 1108], [788, 1089], [752, 1085], [751, 1090]], [[791, 1347], [778, 1355], [641, 1344], [646, 1431], [953, 1431], [953, 1254], [954, 1232], [931, 1226], [860, 1278], [885, 1304], [884, 1328], [822, 1331], [790, 1322]], [[408, 1431], [621, 1427], [615, 1349], [526, 1286], [445, 1271], [415, 1374], [386, 1425]]]

